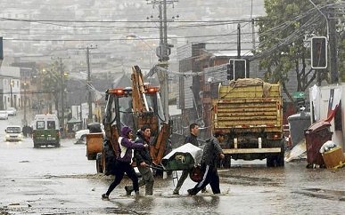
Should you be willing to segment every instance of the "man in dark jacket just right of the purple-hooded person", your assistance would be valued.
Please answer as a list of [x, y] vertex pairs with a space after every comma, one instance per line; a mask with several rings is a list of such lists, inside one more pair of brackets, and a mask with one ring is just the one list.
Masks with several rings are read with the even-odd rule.
[[[151, 129], [149, 126], [144, 125], [140, 130], [136, 132], [136, 142], [150, 145]], [[152, 165], [152, 157], [148, 148], [135, 149], [134, 161], [140, 173], [142, 179], [139, 181], [139, 186], [145, 185], [145, 195], [153, 195], [153, 183], [154, 178], [149, 167]], [[133, 192], [133, 186], [125, 187], [127, 195]]]

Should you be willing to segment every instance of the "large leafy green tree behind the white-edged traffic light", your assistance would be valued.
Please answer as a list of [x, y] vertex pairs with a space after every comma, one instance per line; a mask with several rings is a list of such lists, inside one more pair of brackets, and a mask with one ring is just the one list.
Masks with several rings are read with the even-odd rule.
[[[320, 10], [334, 1], [313, 0]], [[291, 101], [286, 83], [288, 73], [297, 76], [297, 92], [305, 92], [313, 81], [327, 80], [327, 69], [310, 68], [308, 39], [312, 36], [326, 36], [326, 20], [309, 1], [265, 0], [266, 17], [259, 18], [260, 68], [266, 69], [265, 80], [280, 82], [283, 92]]]

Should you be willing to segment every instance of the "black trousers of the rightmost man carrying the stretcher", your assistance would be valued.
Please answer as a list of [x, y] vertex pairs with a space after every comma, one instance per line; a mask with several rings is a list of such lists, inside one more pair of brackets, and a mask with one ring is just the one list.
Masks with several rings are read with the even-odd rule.
[[201, 189], [205, 188], [208, 184], [212, 189], [213, 194], [220, 194], [219, 188], [219, 176], [217, 167], [209, 166], [209, 165], [201, 165], [201, 170], [205, 173], [200, 182], [198, 182], [195, 187], [189, 190], [191, 195], [196, 195], [201, 191]]

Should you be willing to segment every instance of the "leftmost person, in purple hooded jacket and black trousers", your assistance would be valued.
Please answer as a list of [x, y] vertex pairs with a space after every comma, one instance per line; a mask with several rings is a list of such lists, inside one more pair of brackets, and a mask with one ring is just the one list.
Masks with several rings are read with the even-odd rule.
[[115, 164], [115, 179], [108, 188], [108, 191], [102, 195], [103, 200], [109, 200], [109, 195], [111, 191], [119, 185], [123, 176], [126, 172], [129, 179], [133, 181], [133, 189], [136, 192], [136, 196], [139, 195], [139, 185], [138, 177], [136, 176], [136, 171], [131, 165], [132, 162], [132, 149], [142, 149], [144, 147], [149, 147], [147, 144], [136, 143], [132, 141], [133, 131], [131, 128], [125, 126], [121, 129], [121, 136], [119, 137], [119, 150], [118, 156], [116, 157]]

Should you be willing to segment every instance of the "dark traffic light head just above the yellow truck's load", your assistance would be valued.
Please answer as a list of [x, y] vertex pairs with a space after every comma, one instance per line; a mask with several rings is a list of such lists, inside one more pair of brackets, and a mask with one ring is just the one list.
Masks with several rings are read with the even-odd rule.
[[247, 76], [247, 61], [242, 59], [230, 59], [227, 64], [227, 80], [236, 81]]

